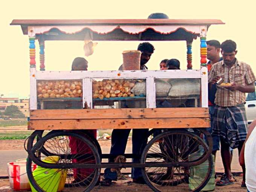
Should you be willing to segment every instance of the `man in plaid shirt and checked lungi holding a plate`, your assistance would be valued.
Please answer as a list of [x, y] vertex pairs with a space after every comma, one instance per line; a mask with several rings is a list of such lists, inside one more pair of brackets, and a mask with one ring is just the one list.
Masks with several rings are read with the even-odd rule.
[[[238, 148], [239, 154], [247, 135], [245, 113], [245, 93], [255, 91], [255, 76], [251, 67], [236, 59], [236, 43], [226, 40], [221, 44], [223, 61], [215, 63], [209, 72], [209, 87], [220, 78], [224, 84], [217, 85], [212, 135], [219, 136], [221, 158], [225, 169], [224, 176], [216, 183], [218, 186], [233, 184], [235, 181], [230, 168], [229, 147]], [[245, 166], [242, 166], [245, 185]]]

